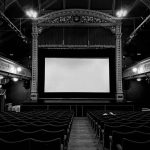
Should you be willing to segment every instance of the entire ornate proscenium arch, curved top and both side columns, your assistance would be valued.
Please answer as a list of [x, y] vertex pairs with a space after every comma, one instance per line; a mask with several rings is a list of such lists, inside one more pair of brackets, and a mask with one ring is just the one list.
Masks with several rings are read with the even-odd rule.
[[32, 24], [32, 84], [31, 99], [38, 100], [38, 34], [42, 27], [100, 26], [115, 33], [116, 43], [116, 101], [123, 101], [121, 20], [109, 14], [86, 9], [65, 9], [43, 15]]

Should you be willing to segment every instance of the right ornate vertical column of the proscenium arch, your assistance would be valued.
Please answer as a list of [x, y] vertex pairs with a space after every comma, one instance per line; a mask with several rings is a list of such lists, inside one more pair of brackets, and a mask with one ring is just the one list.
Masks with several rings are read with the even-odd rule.
[[121, 20], [116, 24], [116, 101], [123, 102]]

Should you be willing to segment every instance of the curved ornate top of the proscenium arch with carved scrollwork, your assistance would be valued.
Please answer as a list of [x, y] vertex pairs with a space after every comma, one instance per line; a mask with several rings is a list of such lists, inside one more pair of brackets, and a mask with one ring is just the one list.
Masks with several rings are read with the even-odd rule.
[[115, 26], [118, 19], [109, 14], [87, 9], [65, 9], [38, 18], [39, 26], [94, 25]]

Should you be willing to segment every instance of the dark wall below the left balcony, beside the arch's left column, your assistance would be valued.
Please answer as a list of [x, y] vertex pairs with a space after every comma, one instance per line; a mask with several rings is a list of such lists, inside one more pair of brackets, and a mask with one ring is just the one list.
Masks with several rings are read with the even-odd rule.
[[30, 99], [30, 89], [24, 87], [24, 81], [9, 81], [6, 88], [6, 103], [21, 104]]

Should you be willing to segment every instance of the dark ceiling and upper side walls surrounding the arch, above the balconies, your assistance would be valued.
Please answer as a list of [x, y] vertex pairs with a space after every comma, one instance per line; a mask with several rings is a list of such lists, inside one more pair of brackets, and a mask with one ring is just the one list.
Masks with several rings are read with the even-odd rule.
[[[0, 55], [21, 61], [31, 56], [31, 20], [27, 8], [39, 14], [70, 8], [98, 10], [115, 16], [120, 8], [128, 15], [123, 22], [123, 55], [134, 61], [150, 57], [150, 0], [0, 0]], [[10, 22], [18, 29], [14, 31]], [[142, 23], [143, 22], [143, 23]], [[142, 23], [142, 25], [140, 25]], [[137, 30], [136, 30], [137, 28]], [[130, 40], [131, 33], [134, 32]], [[26, 38], [22, 38], [23, 36]]]

